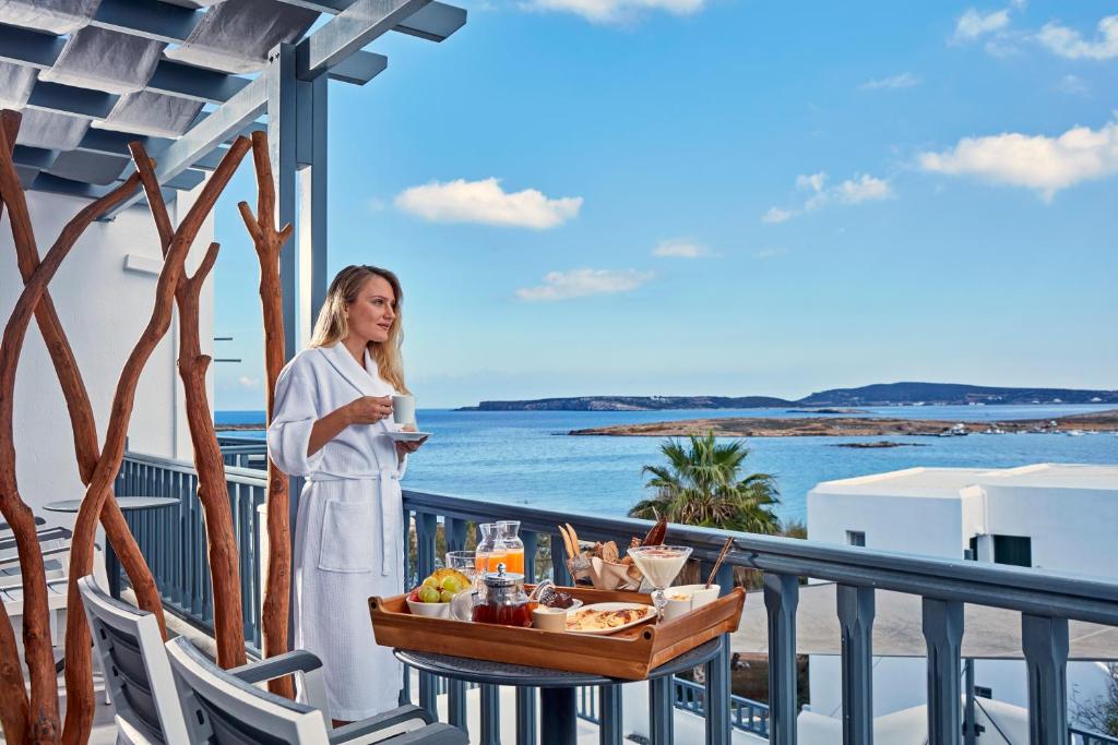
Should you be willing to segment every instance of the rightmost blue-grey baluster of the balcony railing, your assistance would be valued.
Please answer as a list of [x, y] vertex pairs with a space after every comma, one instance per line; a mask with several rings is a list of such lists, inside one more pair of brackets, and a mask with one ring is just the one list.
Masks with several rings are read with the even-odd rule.
[[1029, 742], [1067, 742], [1068, 619], [1022, 613], [1021, 646], [1029, 669]]

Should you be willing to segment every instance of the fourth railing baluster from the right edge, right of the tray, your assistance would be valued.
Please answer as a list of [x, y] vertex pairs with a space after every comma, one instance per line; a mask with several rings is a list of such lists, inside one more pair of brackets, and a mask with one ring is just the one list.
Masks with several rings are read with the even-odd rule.
[[796, 745], [796, 605], [799, 577], [765, 573], [769, 632], [769, 742]]

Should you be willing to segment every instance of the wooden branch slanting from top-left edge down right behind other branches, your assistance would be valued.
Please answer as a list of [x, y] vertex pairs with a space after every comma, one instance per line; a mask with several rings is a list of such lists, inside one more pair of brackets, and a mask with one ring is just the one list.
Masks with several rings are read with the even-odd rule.
[[[19, 133], [21, 115], [17, 112], [0, 112], [0, 123], [8, 135], [8, 144], [15, 145], [16, 136]], [[0, 204], [2, 204], [0, 200]], [[85, 227], [88, 227], [86, 223]], [[83, 230], [85, 229], [83, 227]], [[16, 241], [16, 257], [19, 264], [20, 274], [26, 283], [39, 265], [39, 254], [34, 240], [31, 227], [28, 226], [21, 231], [23, 239]], [[35, 318], [39, 326], [39, 333], [50, 354], [50, 362], [54, 364], [55, 374], [61, 385], [63, 398], [66, 400], [66, 410], [69, 412], [70, 429], [74, 431], [74, 452], [77, 457], [78, 474], [82, 483], [89, 485], [93, 477], [93, 469], [101, 457], [101, 447], [97, 442], [97, 424], [93, 414], [93, 404], [89, 402], [89, 394], [82, 379], [82, 371], [78, 369], [74, 351], [70, 348], [69, 340], [63, 328], [58, 314], [55, 311], [50, 292], [45, 290], [39, 299], [39, 305], [35, 308]], [[105, 507], [101, 513], [101, 524], [105, 528], [105, 535], [116, 552], [121, 565], [132, 590], [136, 594], [136, 603], [143, 610], [152, 613], [159, 622], [160, 632], [167, 638], [167, 621], [163, 618], [163, 603], [155, 585], [155, 579], [151, 574], [151, 569], [140, 551], [129, 528], [124, 513], [121, 512], [116, 499], [106, 499]]]

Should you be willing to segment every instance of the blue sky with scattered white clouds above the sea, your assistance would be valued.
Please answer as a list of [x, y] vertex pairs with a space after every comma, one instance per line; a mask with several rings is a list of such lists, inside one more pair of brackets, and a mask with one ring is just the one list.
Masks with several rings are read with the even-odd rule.
[[[400, 276], [420, 408], [1118, 388], [1114, 3], [459, 4], [330, 90], [330, 274]], [[254, 188], [218, 409], [264, 402]]]

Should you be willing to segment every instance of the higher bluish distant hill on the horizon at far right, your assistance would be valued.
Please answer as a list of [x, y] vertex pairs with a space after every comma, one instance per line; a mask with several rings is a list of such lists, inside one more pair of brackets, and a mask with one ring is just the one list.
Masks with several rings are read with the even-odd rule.
[[1068, 388], [991, 388], [959, 383], [878, 383], [836, 388], [797, 401], [809, 407], [888, 407], [904, 404], [1118, 403], [1118, 391]]

